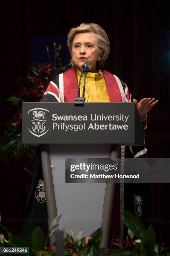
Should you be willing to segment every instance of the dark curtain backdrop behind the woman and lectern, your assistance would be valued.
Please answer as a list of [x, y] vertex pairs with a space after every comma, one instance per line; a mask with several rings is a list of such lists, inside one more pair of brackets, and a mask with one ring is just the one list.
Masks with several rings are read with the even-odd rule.
[[[25, 74], [32, 59], [33, 36], [65, 36], [71, 27], [95, 22], [110, 38], [105, 69], [120, 77], [137, 100], [143, 97], [159, 100], [148, 114], [146, 144], [149, 157], [169, 157], [170, 45], [165, 33], [170, 31], [169, 13], [170, 2], [162, 0], [4, 1], [0, 15], [1, 123], [11, 112], [3, 101], [18, 90], [15, 81]], [[2, 129], [0, 133], [2, 135]], [[28, 162], [32, 172], [33, 162]], [[18, 233], [25, 209], [30, 180], [31, 175], [23, 170], [22, 163], [1, 165], [2, 224], [15, 233]], [[168, 188], [169, 184], [150, 185], [148, 195], [150, 223], [156, 230], [157, 241], [165, 243], [168, 243], [170, 225]]]

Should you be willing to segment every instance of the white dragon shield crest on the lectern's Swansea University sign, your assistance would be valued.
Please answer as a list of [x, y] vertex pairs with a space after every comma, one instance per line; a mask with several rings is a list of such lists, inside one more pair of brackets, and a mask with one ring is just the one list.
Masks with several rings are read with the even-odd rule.
[[46, 127], [47, 116], [49, 116], [49, 111], [45, 108], [33, 108], [28, 111], [30, 116], [30, 126], [28, 130], [36, 137], [41, 137], [49, 128]]

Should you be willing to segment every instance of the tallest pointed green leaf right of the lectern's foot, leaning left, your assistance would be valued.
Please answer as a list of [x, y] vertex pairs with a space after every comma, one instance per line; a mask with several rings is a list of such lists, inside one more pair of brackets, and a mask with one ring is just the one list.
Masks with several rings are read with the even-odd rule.
[[132, 213], [126, 210], [122, 210], [121, 212], [122, 212], [122, 220], [124, 224], [127, 226], [127, 228], [129, 228], [137, 238], [143, 241], [144, 234], [146, 231], [146, 228], [143, 225], [143, 223], [137, 217], [135, 217]]

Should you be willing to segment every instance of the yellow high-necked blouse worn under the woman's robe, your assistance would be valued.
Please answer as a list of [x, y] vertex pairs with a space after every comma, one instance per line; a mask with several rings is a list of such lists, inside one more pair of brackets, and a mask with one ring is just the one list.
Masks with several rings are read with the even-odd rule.
[[[77, 68], [77, 79], [80, 80], [81, 70]], [[82, 96], [82, 87], [85, 75], [83, 74], [80, 84], [80, 96]], [[87, 73], [85, 85], [85, 102], [110, 102], [105, 79], [101, 71], [98, 73]], [[88, 92], [88, 93], [87, 93]]]

